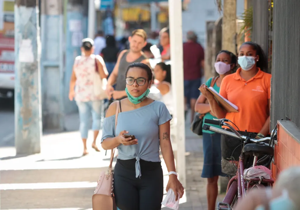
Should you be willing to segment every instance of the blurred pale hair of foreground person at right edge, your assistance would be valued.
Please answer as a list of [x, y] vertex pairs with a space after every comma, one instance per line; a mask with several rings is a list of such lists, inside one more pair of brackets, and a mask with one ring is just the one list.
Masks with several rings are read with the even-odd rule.
[[289, 192], [289, 198], [296, 206], [300, 206], [300, 166], [293, 166], [282, 171], [274, 184], [274, 189], [279, 191], [286, 189]]

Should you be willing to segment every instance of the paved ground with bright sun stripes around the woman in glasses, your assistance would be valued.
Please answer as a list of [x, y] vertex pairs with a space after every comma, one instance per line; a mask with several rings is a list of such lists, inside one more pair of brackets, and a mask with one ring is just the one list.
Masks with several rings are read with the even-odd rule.
[[[99, 172], [108, 166], [109, 156], [105, 156], [105, 151], [90, 150], [88, 156], [81, 157], [79, 133], [72, 131], [79, 125], [78, 115], [66, 117], [67, 132], [44, 134], [41, 154], [16, 156], [12, 147], [13, 109], [1, 103], [0, 209], [90, 209]], [[90, 138], [88, 145], [91, 142]], [[188, 126], [186, 151], [187, 187], [179, 209], [206, 210], [205, 179], [200, 177], [202, 140]], [[164, 162], [162, 165], [164, 185], [167, 185], [168, 172]]]

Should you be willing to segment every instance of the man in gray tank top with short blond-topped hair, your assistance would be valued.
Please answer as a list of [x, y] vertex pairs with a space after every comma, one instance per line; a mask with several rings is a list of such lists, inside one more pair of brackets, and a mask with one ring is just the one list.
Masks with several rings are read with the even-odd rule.
[[[129, 65], [140, 62], [150, 66], [148, 59], [142, 52], [142, 49], [147, 44], [146, 39], [147, 34], [143, 29], [134, 30], [132, 35], [128, 38], [130, 49], [123, 50], [119, 54], [116, 66], [107, 80], [106, 92], [109, 99], [113, 98], [115, 100], [121, 100], [127, 97], [125, 92], [125, 73]], [[113, 88], [115, 83], [116, 89]]]

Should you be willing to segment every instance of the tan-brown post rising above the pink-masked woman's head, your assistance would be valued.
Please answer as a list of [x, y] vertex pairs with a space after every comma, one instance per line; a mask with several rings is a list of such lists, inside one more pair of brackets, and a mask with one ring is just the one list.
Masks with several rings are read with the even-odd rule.
[[224, 0], [222, 24], [222, 50], [235, 53], [236, 0]]

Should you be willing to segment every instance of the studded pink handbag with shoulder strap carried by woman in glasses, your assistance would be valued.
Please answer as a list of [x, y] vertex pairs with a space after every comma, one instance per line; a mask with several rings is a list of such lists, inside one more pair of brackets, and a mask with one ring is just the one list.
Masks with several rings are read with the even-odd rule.
[[[115, 128], [117, 127], [117, 120], [120, 108], [120, 102], [116, 101], [116, 117], [115, 117]], [[113, 157], [115, 154], [116, 148], [111, 150], [110, 154], [110, 165], [108, 166], [107, 171], [101, 171], [100, 177], [97, 182], [97, 187], [94, 191], [92, 197], [92, 206], [93, 210], [116, 210], [117, 206], [115, 203], [115, 198], [113, 194]]]

